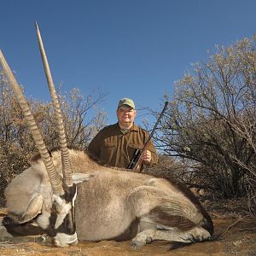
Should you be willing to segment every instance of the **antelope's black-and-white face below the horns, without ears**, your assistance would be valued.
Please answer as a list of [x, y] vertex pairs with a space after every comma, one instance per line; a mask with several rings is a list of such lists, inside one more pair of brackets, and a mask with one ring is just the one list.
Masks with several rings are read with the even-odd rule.
[[50, 226], [55, 247], [68, 247], [78, 243], [74, 217], [74, 202], [77, 197], [77, 185], [63, 186], [64, 195], [53, 195], [53, 206], [50, 216]]

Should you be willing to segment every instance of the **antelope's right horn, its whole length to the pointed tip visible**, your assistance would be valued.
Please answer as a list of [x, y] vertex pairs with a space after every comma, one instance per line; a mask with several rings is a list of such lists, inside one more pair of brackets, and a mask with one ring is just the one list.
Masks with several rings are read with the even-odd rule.
[[61, 161], [62, 161], [63, 178], [64, 178], [64, 182], [67, 184], [67, 186], [70, 187], [73, 185], [72, 168], [71, 168], [68, 150], [67, 150], [67, 139], [66, 139], [65, 128], [63, 125], [61, 106], [60, 106], [58, 96], [55, 91], [55, 85], [54, 85], [54, 82], [53, 82], [53, 79], [52, 79], [52, 76], [50, 73], [49, 63], [47, 61], [47, 56], [46, 56], [45, 50], [44, 50], [44, 44], [43, 44], [43, 41], [41, 38], [41, 34], [39, 31], [37, 22], [36, 22], [36, 29], [37, 29], [37, 35], [38, 35], [39, 49], [41, 52], [42, 61], [44, 63], [44, 72], [45, 72], [46, 79], [48, 82], [50, 96], [52, 98], [52, 102], [53, 102], [54, 109], [55, 109], [55, 121], [56, 121], [56, 125], [57, 125], [57, 130], [59, 133], [59, 142], [60, 142], [60, 147], [61, 147]]

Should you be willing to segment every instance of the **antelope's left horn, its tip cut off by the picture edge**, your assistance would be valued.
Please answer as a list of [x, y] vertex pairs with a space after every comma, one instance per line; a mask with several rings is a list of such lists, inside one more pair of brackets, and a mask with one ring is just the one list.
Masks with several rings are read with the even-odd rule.
[[44, 165], [48, 172], [49, 181], [51, 183], [53, 192], [56, 195], [61, 195], [63, 191], [61, 179], [57, 174], [57, 172], [55, 171], [55, 166], [53, 164], [53, 161], [50, 158], [50, 155], [44, 143], [43, 137], [38, 129], [38, 125], [36, 124], [35, 119], [33, 118], [31, 109], [28, 107], [26, 98], [23, 95], [22, 90], [20, 89], [20, 85], [16, 81], [14, 74], [9, 68], [9, 65], [5, 60], [1, 49], [0, 49], [0, 62], [3, 67], [3, 72], [6, 74], [7, 78], [9, 79], [9, 84], [11, 85], [12, 89], [15, 92], [16, 100], [20, 105], [22, 113], [24, 114], [27, 125], [32, 133], [33, 140], [36, 143], [36, 146], [38, 148], [39, 154], [41, 155], [41, 158], [44, 161]]

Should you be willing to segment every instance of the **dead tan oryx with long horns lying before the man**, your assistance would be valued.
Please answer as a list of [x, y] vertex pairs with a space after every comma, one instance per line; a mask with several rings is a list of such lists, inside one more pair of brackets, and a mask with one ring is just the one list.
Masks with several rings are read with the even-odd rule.
[[[41, 44], [39, 32], [38, 38]], [[43, 44], [40, 49], [44, 60]], [[31, 167], [15, 177], [5, 190], [9, 214], [0, 225], [0, 240], [46, 233], [60, 247], [76, 243], [77, 236], [80, 241], [131, 240], [134, 247], [141, 247], [154, 240], [190, 243], [212, 236], [212, 219], [182, 185], [101, 166], [86, 152], [67, 149], [60, 106], [44, 60], [61, 137], [61, 150], [49, 155], [2, 53], [0, 60], [9, 84], [15, 84], [20, 107], [26, 106], [22, 110], [28, 124], [32, 123], [32, 132], [36, 132], [33, 137], [39, 151], [32, 158]], [[71, 170], [80, 174], [72, 175]], [[78, 185], [76, 198], [75, 183], [88, 179], [89, 182]]]

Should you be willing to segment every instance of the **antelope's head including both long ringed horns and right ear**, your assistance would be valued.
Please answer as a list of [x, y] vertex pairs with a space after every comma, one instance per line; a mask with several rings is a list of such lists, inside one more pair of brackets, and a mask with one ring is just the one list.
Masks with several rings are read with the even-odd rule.
[[87, 175], [83, 173], [77, 173], [75, 174], [75, 178], [73, 178], [73, 170], [68, 155], [67, 140], [63, 125], [60, 103], [55, 92], [55, 86], [53, 84], [49, 70], [49, 64], [44, 51], [44, 44], [42, 42], [37, 23], [36, 29], [39, 49], [44, 63], [44, 71], [49, 84], [49, 91], [55, 109], [55, 125], [56, 130], [59, 133], [63, 179], [55, 170], [55, 165], [49, 155], [49, 151], [38, 129], [38, 125], [33, 118], [32, 111], [29, 108], [26, 102], [26, 98], [23, 95], [22, 90], [20, 90], [20, 85], [17, 83], [15, 76], [9, 68], [9, 65], [5, 60], [1, 50], [0, 62], [3, 67], [3, 72], [6, 74], [7, 78], [9, 79], [9, 84], [14, 90], [16, 100], [20, 105], [27, 125], [32, 132], [33, 140], [36, 144], [36, 147], [38, 148], [41, 159], [44, 161], [44, 166], [48, 172], [53, 196], [51, 198], [52, 208], [49, 214], [49, 226], [45, 229], [45, 232], [52, 238], [56, 247], [67, 247], [69, 245], [78, 243], [74, 218], [74, 202], [77, 196], [77, 183], [87, 181], [91, 177], [95, 176], [91, 174]]

